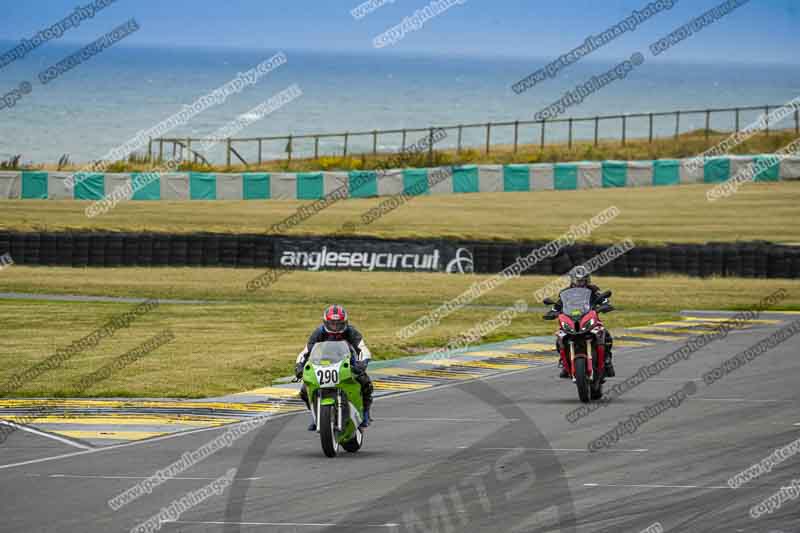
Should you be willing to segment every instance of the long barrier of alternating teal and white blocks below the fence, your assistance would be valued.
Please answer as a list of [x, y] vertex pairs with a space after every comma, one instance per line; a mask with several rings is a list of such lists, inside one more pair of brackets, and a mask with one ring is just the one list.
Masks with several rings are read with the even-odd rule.
[[[597, 187], [643, 187], [665, 186], [689, 183], [717, 184], [732, 178], [740, 171], [750, 169], [763, 155], [725, 156], [706, 159], [700, 168], [694, 168], [692, 159], [657, 160], [657, 161], [578, 161], [573, 163], [537, 163], [515, 165], [467, 165], [452, 167], [453, 175], [460, 176], [468, 171], [474, 176], [474, 186], [463, 187], [458, 179], [448, 177], [438, 183], [425, 194], [466, 194], [478, 192], [527, 192], [545, 190], [574, 190]], [[316, 173], [259, 173], [267, 176], [270, 191], [267, 195], [246, 194], [247, 173], [244, 174], [204, 174], [176, 172], [163, 174], [153, 186], [155, 191], [165, 194], [152, 196], [147, 201], [169, 200], [205, 200], [205, 195], [192, 198], [191, 192], [197, 188], [214, 190], [216, 182], [225, 183], [224, 200], [317, 200], [324, 194], [334, 191], [344, 192], [349, 196], [387, 196], [399, 192], [396, 187], [398, 178], [401, 182], [431, 179], [433, 172], [441, 169], [393, 169], [375, 173], [375, 187], [370, 192], [362, 189], [351, 194], [350, 184], [363, 172], [316, 172]], [[39, 183], [42, 175], [52, 185], [44, 196], [52, 200], [80, 199], [75, 187], [70, 187], [68, 172], [28, 172], [0, 171], [0, 200], [27, 199], [20, 191], [33, 189], [25, 187], [25, 183]], [[440, 174], [440, 173], [437, 173]], [[94, 176], [97, 187], [101, 185], [107, 195], [113, 193], [114, 187], [130, 185], [131, 174], [98, 174]], [[308, 187], [309, 177], [313, 176], [314, 187]], [[762, 172], [755, 177], [756, 181], [779, 181], [800, 179], [800, 157], [787, 157], [777, 168]], [[11, 184], [22, 183], [22, 187]], [[192, 184], [197, 183], [198, 187]], [[187, 186], [188, 184], [188, 186]], [[80, 188], [80, 187], [79, 187]], [[338, 197], [338, 193], [337, 193]], [[42, 196], [36, 196], [40, 199]], [[213, 201], [224, 201], [213, 200]], [[145, 200], [141, 200], [145, 201]]]

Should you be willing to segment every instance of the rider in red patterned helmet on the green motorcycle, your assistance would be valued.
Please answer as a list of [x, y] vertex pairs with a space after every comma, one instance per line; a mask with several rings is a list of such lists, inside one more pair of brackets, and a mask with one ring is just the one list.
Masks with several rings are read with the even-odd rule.
[[[372, 380], [367, 375], [367, 365], [372, 357], [372, 354], [364, 342], [364, 337], [359, 331], [351, 326], [347, 320], [347, 311], [341, 305], [331, 305], [322, 315], [322, 325], [314, 330], [308, 338], [305, 348], [297, 356], [295, 363], [294, 373], [299, 379], [303, 376], [303, 369], [311, 355], [311, 350], [318, 342], [325, 341], [347, 341], [350, 347], [355, 352], [355, 356], [351, 360], [351, 367], [353, 370], [353, 377], [361, 385], [361, 398], [364, 401], [364, 420], [359, 425], [359, 428], [364, 429], [370, 424], [370, 408], [372, 407]], [[300, 388], [300, 397], [306, 404], [309, 410], [311, 405], [308, 401], [308, 391], [305, 384]], [[314, 413], [311, 412], [312, 423], [308, 426], [309, 431], [316, 431], [317, 423], [314, 420]]]

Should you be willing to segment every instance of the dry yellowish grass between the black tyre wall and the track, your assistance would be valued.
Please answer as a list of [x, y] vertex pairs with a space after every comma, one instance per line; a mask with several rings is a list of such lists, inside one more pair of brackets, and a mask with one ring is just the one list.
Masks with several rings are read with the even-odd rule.
[[[127, 330], [106, 338], [45, 373], [16, 395], [71, 396], [83, 375], [100, 368], [163, 329], [175, 340], [89, 389], [88, 396], [215, 396], [268, 384], [288, 375], [294, 357], [324, 305], [349, 308], [378, 357], [417, 353], [495, 316], [517, 298], [531, 305], [533, 292], [549, 278], [525, 276], [487, 294], [476, 306], [458, 311], [406, 342], [395, 332], [484, 276], [363, 272], [297, 272], [268, 290], [248, 293], [255, 270], [230, 269], [70, 269], [13, 266], [0, 273], [0, 291], [114, 295], [215, 300], [195, 305], [162, 304]], [[612, 329], [667, 320], [679, 309], [744, 309], [765, 294], [786, 288], [784, 309], [800, 309], [800, 281], [700, 280], [685, 277], [605, 278], [619, 312], [608, 315]], [[4, 331], [0, 382], [69, 345], [132, 304], [0, 300]], [[538, 312], [518, 316], [484, 341], [548, 335], [552, 323]], [[13, 354], [13, 356], [11, 355]]]

